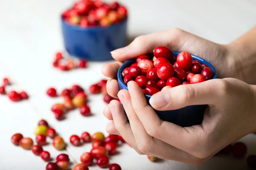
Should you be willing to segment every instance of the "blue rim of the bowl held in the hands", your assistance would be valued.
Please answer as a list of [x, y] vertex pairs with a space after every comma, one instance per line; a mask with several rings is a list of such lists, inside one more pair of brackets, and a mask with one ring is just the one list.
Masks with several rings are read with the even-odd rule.
[[[180, 54], [181, 52], [173, 51], [173, 53], [174, 53], [174, 55], [175, 55], [175, 57], [176, 57], [176, 56], [177, 56], [178, 54]], [[212, 79], [217, 79], [217, 72], [216, 72], [215, 68], [213, 67], [213, 65], [212, 65], [211, 63], [209, 63], [209, 62], [208, 62], [207, 60], [205, 60], [205, 59], [202, 59], [201, 57], [198, 57], [198, 56], [195, 56], [195, 55], [192, 55], [192, 54], [190, 54], [190, 55], [192, 56], [193, 60], [199, 60], [200, 62], [203, 62], [203, 64], [208, 65], [208, 67], [211, 68], [212, 71], [213, 71], [213, 73], [214, 73], [214, 76], [212, 77]], [[130, 59], [130, 60], [124, 62], [124, 63], [121, 65], [121, 67], [118, 69], [118, 72], [117, 72], [117, 80], [118, 80], [119, 83], [121, 83], [121, 85], [122, 85], [126, 90], [128, 90], [128, 87], [127, 87], [127, 85], [125, 84], [125, 82], [122, 80], [121, 74], [122, 74], [122, 71], [123, 71], [125, 68], [127, 68], [126, 66], [127, 66], [128, 64], [131, 64], [132, 62], [135, 62], [135, 61], [136, 61], [136, 59]], [[152, 95], [149, 95], [149, 94], [144, 94], [144, 95], [147, 96], [147, 97], [151, 97], [151, 96], [152, 96]]]

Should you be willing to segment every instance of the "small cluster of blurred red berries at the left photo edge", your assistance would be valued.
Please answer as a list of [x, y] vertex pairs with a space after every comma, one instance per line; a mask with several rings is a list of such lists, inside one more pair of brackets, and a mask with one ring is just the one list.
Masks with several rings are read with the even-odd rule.
[[[11, 85], [8, 78], [3, 78], [3, 85], [0, 86], [0, 94], [5, 95], [6, 94], [6, 86]], [[21, 91], [20, 93], [17, 93], [17, 91], [9, 91], [7, 93], [7, 96], [9, 99], [13, 102], [19, 102], [23, 99], [28, 99], [29, 96], [25, 91]]]

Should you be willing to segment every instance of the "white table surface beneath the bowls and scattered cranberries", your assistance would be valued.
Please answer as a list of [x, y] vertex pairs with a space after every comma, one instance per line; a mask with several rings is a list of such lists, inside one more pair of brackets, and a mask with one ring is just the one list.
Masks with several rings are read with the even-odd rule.
[[[60, 92], [74, 83], [88, 90], [89, 85], [102, 78], [103, 62], [90, 63], [87, 69], [61, 72], [52, 68], [52, 58], [63, 49], [59, 14], [72, 0], [0, 0], [0, 79], [9, 77], [12, 89], [26, 90], [29, 101], [13, 103], [0, 96], [0, 170], [44, 170], [46, 162], [30, 150], [15, 147], [10, 137], [20, 132], [35, 139], [33, 131], [39, 119], [46, 119], [69, 143], [72, 134], [83, 131], [105, 132], [108, 120], [102, 114], [105, 103], [102, 95], [89, 96], [93, 116], [82, 117], [78, 110], [57, 121], [50, 111], [61, 99], [50, 99], [45, 91], [54, 86]], [[218, 43], [228, 43], [256, 23], [255, 0], [122, 0], [130, 12], [129, 36], [136, 37], [171, 27], [179, 27]], [[8, 88], [7, 90], [10, 90]], [[107, 133], [106, 133], [107, 134]], [[48, 140], [48, 139], [47, 139]], [[256, 135], [241, 141], [248, 146], [248, 154], [256, 154]], [[51, 142], [48, 140], [48, 142]], [[72, 162], [80, 162], [81, 153], [90, 144], [67, 150]], [[44, 147], [52, 157], [59, 153], [51, 144]], [[246, 170], [245, 159], [232, 156], [213, 157], [204, 165], [191, 167], [175, 161], [152, 163], [129, 146], [120, 147], [120, 154], [111, 158], [123, 170]], [[247, 154], [247, 155], [248, 155]], [[90, 170], [100, 169], [97, 166]]]

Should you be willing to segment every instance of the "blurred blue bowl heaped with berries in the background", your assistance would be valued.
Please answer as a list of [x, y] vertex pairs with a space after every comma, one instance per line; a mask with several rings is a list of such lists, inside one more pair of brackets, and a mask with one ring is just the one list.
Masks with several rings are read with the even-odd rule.
[[66, 51], [90, 61], [113, 59], [110, 52], [126, 44], [127, 9], [114, 1], [80, 0], [61, 15]]

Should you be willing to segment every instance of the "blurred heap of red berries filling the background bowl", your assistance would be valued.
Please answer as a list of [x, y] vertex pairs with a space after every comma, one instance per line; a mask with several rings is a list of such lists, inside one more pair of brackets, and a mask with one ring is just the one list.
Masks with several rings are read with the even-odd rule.
[[118, 2], [104, 3], [101, 0], [80, 0], [62, 13], [70, 25], [87, 27], [108, 27], [127, 17], [127, 9]]

